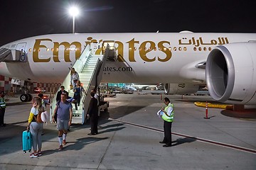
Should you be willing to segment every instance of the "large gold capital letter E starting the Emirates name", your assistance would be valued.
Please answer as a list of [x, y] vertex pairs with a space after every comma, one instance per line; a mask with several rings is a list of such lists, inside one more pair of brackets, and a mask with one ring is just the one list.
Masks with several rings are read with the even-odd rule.
[[50, 41], [52, 42], [52, 40], [50, 39], [38, 39], [35, 42], [35, 45], [33, 47], [33, 62], [50, 62], [50, 58], [48, 59], [40, 59], [39, 58], [39, 49], [40, 48], [47, 48], [46, 45], [41, 45], [41, 41]]

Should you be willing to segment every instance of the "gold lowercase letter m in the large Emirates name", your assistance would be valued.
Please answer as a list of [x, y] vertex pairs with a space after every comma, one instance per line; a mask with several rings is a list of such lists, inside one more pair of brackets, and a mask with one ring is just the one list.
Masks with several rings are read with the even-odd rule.
[[[71, 44], [69, 42], [54, 42], [54, 49], [58, 48], [59, 50], [54, 50], [53, 51], [53, 61], [54, 62], [60, 62], [60, 60], [58, 60], [58, 52], [60, 51], [60, 45], [64, 45], [64, 60], [65, 62], [71, 62], [70, 60], [70, 46], [71, 45], [75, 45], [75, 60], [78, 60], [78, 58], [81, 55], [81, 43], [80, 42], [72, 42]], [[67, 50], [65, 50], [67, 49]]]

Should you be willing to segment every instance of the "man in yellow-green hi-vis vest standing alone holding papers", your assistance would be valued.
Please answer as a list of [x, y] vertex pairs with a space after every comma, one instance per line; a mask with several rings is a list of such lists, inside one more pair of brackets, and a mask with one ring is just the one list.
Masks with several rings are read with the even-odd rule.
[[159, 143], [164, 143], [163, 147], [171, 147], [171, 124], [174, 120], [174, 104], [172, 104], [169, 98], [164, 98], [165, 108], [161, 108], [164, 119], [164, 140]]

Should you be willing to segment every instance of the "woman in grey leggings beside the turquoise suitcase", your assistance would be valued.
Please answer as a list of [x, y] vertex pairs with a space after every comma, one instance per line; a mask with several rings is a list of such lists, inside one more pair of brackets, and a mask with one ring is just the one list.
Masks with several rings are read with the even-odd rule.
[[[43, 123], [36, 122], [36, 117], [38, 113], [43, 112], [42, 100], [39, 97], [33, 98], [33, 106], [28, 117], [27, 130], [31, 131], [32, 141], [33, 141], [33, 153], [30, 157], [40, 157], [42, 155], [42, 131]], [[38, 148], [37, 148], [38, 147]], [[38, 152], [37, 152], [38, 149]]]

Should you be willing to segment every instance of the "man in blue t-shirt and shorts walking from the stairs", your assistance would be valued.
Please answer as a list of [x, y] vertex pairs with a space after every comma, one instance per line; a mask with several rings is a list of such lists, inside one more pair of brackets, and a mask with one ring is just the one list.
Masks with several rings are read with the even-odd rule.
[[[58, 108], [57, 108], [58, 107]], [[57, 128], [58, 128], [58, 142], [60, 147], [59, 151], [63, 149], [63, 145], [66, 145], [66, 137], [68, 134], [68, 127], [72, 122], [72, 106], [71, 103], [67, 101], [67, 94], [63, 93], [60, 96], [60, 103], [56, 103], [55, 110], [53, 111], [53, 122], [54, 115], [57, 111]]]

